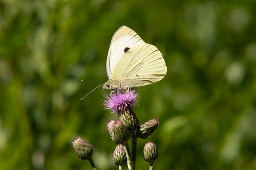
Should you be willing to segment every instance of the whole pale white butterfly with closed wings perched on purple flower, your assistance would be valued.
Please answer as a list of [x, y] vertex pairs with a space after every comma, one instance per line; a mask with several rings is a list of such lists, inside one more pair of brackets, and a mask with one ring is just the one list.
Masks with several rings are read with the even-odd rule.
[[167, 67], [160, 51], [145, 43], [132, 29], [122, 26], [112, 37], [104, 89], [123, 90], [160, 81]]

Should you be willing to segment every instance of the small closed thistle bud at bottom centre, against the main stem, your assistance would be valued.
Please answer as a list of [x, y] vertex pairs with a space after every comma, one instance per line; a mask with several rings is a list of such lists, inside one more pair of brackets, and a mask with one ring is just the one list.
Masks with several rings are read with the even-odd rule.
[[112, 160], [117, 166], [122, 166], [126, 163], [127, 158], [122, 144], [118, 144], [112, 155]]

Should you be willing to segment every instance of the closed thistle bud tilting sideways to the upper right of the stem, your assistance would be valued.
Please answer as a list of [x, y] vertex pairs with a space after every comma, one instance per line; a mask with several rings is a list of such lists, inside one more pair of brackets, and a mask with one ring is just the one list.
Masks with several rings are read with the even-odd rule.
[[139, 129], [139, 137], [144, 139], [150, 136], [159, 126], [159, 120], [154, 118], [151, 120], [148, 120], [144, 124], [140, 126]]

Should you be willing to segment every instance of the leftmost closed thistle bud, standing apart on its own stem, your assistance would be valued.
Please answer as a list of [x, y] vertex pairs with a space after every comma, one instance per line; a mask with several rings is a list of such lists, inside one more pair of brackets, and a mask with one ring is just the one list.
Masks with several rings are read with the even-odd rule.
[[72, 144], [73, 144], [75, 153], [80, 160], [91, 160], [92, 159], [93, 147], [88, 141], [86, 141], [80, 137], [77, 137], [74, 139]]

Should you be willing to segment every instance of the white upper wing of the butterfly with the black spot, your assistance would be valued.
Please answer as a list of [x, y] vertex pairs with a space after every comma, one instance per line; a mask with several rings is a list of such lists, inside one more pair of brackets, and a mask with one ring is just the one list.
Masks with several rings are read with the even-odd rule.
[[108, 58], [106, 59], [106, 72], [109, 79], [113, 79], [113, 70], [124, 53], [137, 46], [145, 43], [140, 36], [132, 29], [122, 26], [112, 37]]

